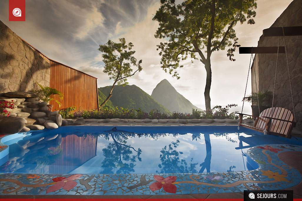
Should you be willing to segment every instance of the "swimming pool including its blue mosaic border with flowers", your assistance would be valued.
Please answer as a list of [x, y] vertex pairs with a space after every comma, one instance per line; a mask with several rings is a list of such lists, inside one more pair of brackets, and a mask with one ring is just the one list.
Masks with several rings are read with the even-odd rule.
[[[236, 126], [80, 126], [45, 131], [2, 138], [10, 153], [0, 167], [5, 173], [0, 175], [1, 194], [225, 193], [284, 189], [301, 181], [297, 170], [284, 169], [277, 156], [302, 150], [301, 142]], [[268, 170], [288, 179], [276, 184]], [[63, 181], [75, 185], [62, 189]], [[165, 181], [171, 189], [157, 186]]]

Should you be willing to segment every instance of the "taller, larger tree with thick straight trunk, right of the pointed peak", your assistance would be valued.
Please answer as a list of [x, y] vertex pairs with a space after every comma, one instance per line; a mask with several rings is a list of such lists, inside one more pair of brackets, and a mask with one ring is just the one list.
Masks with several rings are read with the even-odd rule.
[[[179, 5], [175, 0], [161, 0], [161, 6], [156, 11], [153, 20], [159, 22], [159, 28], [154, 35], [156, 38], [168, 38], [169, 42], [161, 42], [157, 47], [162, 56], [160, 63], [165, 72], [179, 79], [176, 69], [180, 59], [188, 55], [204, 64], [207, 72], [204, 98], [206, 109], [211, 108], [210, 87], [212, 81], [211, 61], [212, 52], [227, 50], [231, 61], [236, 47], [239, 47], [236, 32], [233, 27], [248, 19], [248, 24], [255, 24], [257, 8], [256, 0], [185, 0]], [[204, 51], [204, 52], [203, 52]]]

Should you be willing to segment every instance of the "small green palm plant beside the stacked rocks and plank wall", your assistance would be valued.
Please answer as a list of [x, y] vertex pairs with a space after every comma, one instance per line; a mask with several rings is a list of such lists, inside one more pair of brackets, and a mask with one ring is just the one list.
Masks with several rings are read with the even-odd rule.
[[[37, 83], [37, 84], [41, 88], [41, 90], [40, 90], [40, 95], [41, 95], [40, 99], [41, 100], [49, 103], [51, 100], [55, 100], [55, 98], [54, 98], [55, 96], [58, 96], [60, 100], [63, 99], [64, 95], [59, 90], [50, 88], [48, 86], [44, 87], [44, 86], [40, 85], [39, 83]], [[59, 104], [59, 107], [62, 106], [62, 103], [60, 103], [58, 100], [55, 100], [55, 102]], [[52, 111], [53, 105], [47, 105], [47, 107], [48, 107], [48, 110]]]

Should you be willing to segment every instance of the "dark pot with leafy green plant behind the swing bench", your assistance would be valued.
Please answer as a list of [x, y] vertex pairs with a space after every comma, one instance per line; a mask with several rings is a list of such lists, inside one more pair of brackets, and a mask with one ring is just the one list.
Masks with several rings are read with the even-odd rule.
[[259, 110], [261, 113], [263, 110], [271, 107], [272, 93], [268, 90], [259, 91], [258, 93], [253, 92], [251, 95], [244, 97], [242, 101], [251, 102], [252, 115], [259, 116]]

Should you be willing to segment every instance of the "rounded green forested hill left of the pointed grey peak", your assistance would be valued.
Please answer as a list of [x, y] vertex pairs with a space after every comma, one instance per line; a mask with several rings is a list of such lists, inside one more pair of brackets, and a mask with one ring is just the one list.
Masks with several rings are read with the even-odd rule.
[[[111, 90], [111, 86], [100, 87], [98, 90], [104, 94], [105, 98], [103, 98], [103, 100], [105, 100]], [[152, 109], [158, 109], [161, 113], [170, 112], [136, 85], [114, 86], [109, 101], [111, 101], [113, 105], [128, 109], [140, 108], [145, 112], [149, 112]]]

